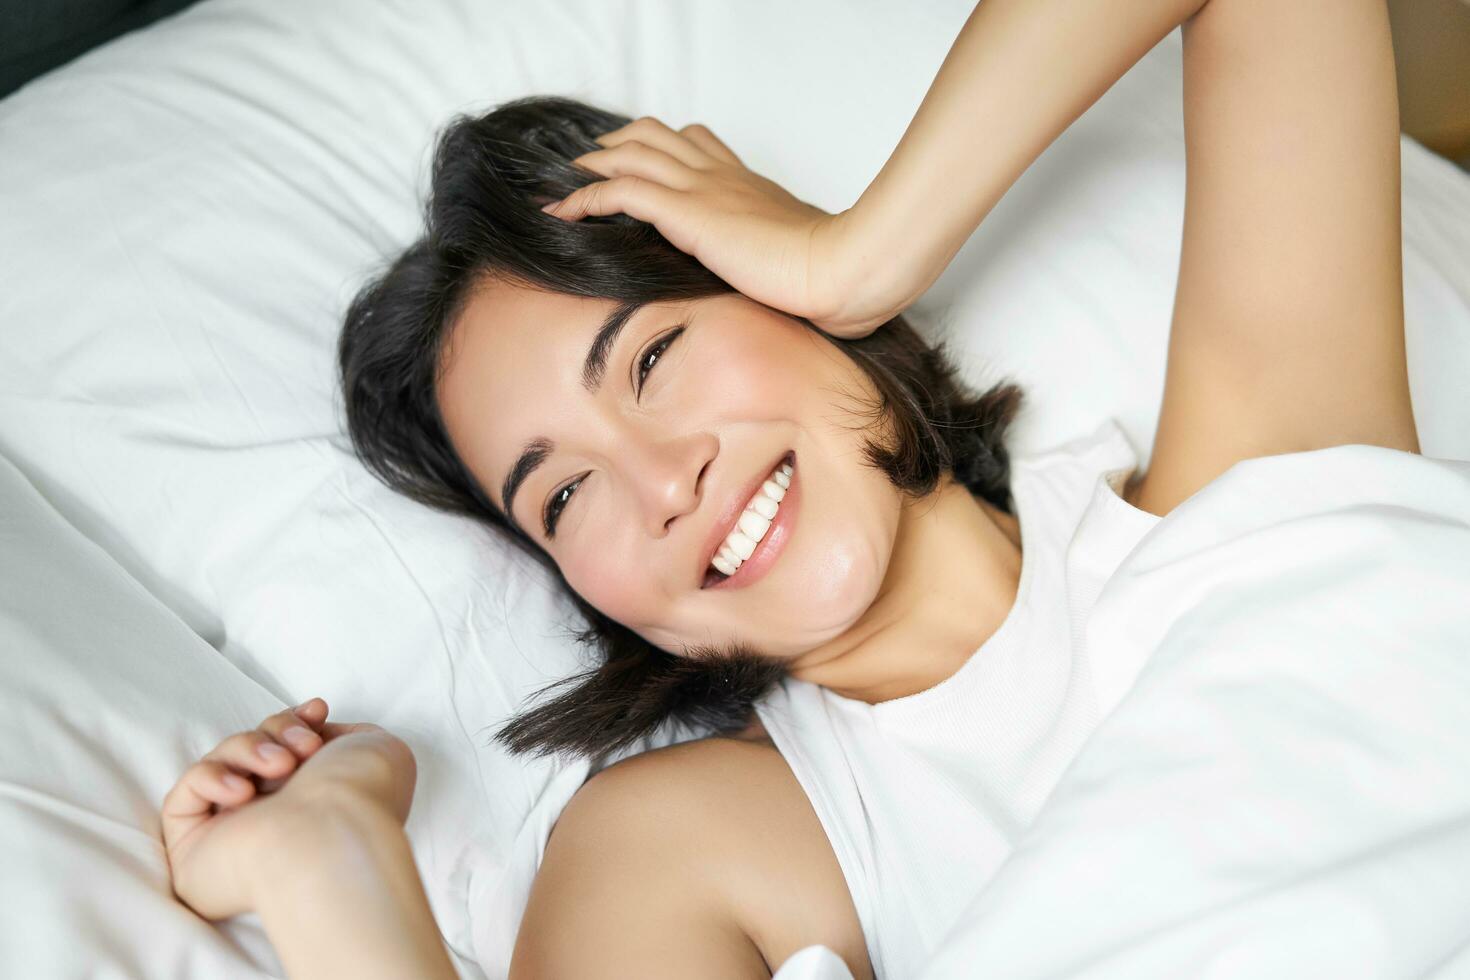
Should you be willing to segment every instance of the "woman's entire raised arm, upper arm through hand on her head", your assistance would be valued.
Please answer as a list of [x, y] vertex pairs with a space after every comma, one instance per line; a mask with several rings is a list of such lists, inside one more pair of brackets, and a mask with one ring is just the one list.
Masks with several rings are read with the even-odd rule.
[[1417, 453], [1383, 0], [983, 0], [839, 215], [753, 175], [703, 126], [656, 119], [601, 137], [607, 148], [578, 163], [610, 179], [553, 213], [650, 220], [751, 298], [863, 336], [928, 289], [1030, 162], [1179, 24], [1183, 248], [1154, 457], [1129, 498], [1164, 514], [1276, 453]]

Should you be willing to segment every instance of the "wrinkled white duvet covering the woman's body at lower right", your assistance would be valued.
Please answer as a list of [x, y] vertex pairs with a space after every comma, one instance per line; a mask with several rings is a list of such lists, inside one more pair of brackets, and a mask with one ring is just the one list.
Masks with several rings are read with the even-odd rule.
[[1086, 646], [1136, 679], [926, 980], [1470, 976], [1470, 463], [1239, 463]]

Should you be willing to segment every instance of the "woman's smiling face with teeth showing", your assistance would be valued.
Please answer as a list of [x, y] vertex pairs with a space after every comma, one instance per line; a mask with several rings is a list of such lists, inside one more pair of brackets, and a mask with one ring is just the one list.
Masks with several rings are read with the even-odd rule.
[[[614, 329], [620, 306], [481, 284], [437, 389], [456, 451], [584, 599], [663, 649], [794, 660], [839, 636], [900, 526], [903, 495], [863, 451], [872, 382], [738, 292], [651, 303]], [[782, 460], [789, 488], [761, 529], [741, 514]], [[761, 535], [753, 554], [728, 536], [738, 520]], [[710, 572], [726, 545], [750, 555], [729, 579]]]

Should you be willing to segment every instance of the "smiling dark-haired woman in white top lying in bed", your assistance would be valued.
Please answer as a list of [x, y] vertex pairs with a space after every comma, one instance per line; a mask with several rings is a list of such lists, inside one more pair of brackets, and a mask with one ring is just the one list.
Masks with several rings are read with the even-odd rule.
[[[900, 313], [1180, 22], [1186, 219], [1152, 463], [1132, 473], [1104, 429], [1022, 480], [1019, 392], [966, 391]], [[585, 614], [600, 666], [507, 726], [512, 748], [716, 733], [578, 792], [512, 974], [764, 977], [822, 943], [854, 977], [914, 976], [1098, 721], [1078, 592], [1239, 460], [1417, 451], [1398, 154], [1373, 0], [986, 0], [835, 216], [703, 126], [564, 100], [451, 126], [425, 238], [347, 317], [354, 444], [503, 529]], [[1058, 572], [1082, 539], [1091, 580]], [[293, 976], [451, 977], [401, 832], [412, 755], [325, 717], [313, 699], [184, 774], [175, 889], [209, 918], [257, 911]], [[873, 724], [895, 749], [844, 755]], [[950, 837], [898, 848], [901, 826], [864, 823], [875, 793], [951, 808]]]

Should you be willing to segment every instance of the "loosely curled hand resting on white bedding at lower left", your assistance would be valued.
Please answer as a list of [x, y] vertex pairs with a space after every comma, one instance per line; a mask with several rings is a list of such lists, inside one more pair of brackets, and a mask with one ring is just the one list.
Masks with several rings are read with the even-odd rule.
[[401, 826], [417, 768], [407, 745], [376, 724], [326, 721], [320, 698], [231, 735], [163, 798], [173, 892], [209, 920], [259, 907], [269, 868], [310, 849], [334, 826], [381, 811]]

